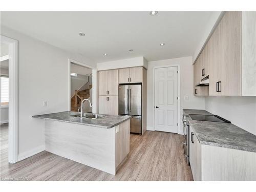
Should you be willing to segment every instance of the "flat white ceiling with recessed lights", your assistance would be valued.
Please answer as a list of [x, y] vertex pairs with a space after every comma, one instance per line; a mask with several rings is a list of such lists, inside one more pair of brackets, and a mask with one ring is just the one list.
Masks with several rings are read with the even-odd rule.
[[1, 25], [96, 62], [137, 56], [152, 61], [193, 55], [212, 13], [1, 12]]

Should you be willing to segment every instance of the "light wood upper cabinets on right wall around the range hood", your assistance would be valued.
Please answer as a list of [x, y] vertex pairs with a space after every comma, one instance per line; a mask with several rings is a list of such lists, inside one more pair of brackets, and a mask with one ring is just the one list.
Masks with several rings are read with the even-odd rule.
[[194, 64], [194, 86], [209, 74], [209, 95], [256, 96], [255, 50], [256, 12], [227, 11]]

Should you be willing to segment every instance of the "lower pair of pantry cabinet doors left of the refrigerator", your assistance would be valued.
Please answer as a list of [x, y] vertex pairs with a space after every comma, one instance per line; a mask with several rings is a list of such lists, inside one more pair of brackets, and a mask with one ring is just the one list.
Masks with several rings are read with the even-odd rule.
[[99, 113], [118, 115], [118, 96], [99, 96]]

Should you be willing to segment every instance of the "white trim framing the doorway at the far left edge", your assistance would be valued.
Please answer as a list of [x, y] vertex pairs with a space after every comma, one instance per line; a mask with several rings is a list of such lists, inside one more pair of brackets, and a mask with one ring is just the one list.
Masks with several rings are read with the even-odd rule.
[[18, 41], [1, 35], [1, 42], [9, 45], [9, 124], [8, 161], [18, 161]]

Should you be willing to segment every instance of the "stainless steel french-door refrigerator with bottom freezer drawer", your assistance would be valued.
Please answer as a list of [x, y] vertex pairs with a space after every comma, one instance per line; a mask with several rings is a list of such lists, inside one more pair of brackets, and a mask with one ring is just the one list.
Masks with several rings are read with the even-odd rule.
[[142, 134], [141, 84], [119, 85], [118, 114], [131, 116], [130, 132]]

